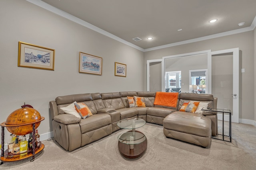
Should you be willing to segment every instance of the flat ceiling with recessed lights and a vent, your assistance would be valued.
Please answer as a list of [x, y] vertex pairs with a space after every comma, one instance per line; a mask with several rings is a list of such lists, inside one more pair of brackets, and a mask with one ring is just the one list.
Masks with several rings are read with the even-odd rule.
[[[34, 2], [36, 0], [27, 1], [38, 3]], [[210, 38], [214, 35], [250, 31], [256, 25], [256, 0], [42, 1], [39, 6], [45, 6], [43, 8], [52, 12], [56, 9], [49, 8], [54, 6], [59, 11], [96, 26], [94, 28], [104, 30], [103, 34], [110, 33], [110, 37], [114, 35], [142, 51], [206, 36]], [[50, 4], [50, 7], [46, 7], [44, 2]], [[209, 20], [215, 18], [218, 21], [209, 23]], [[239, 26], [240, 22], [245, 24]], [[135, 37], [142, 40], [134, 41]], [[147, 37], [153, 39], [148, 40]]]

